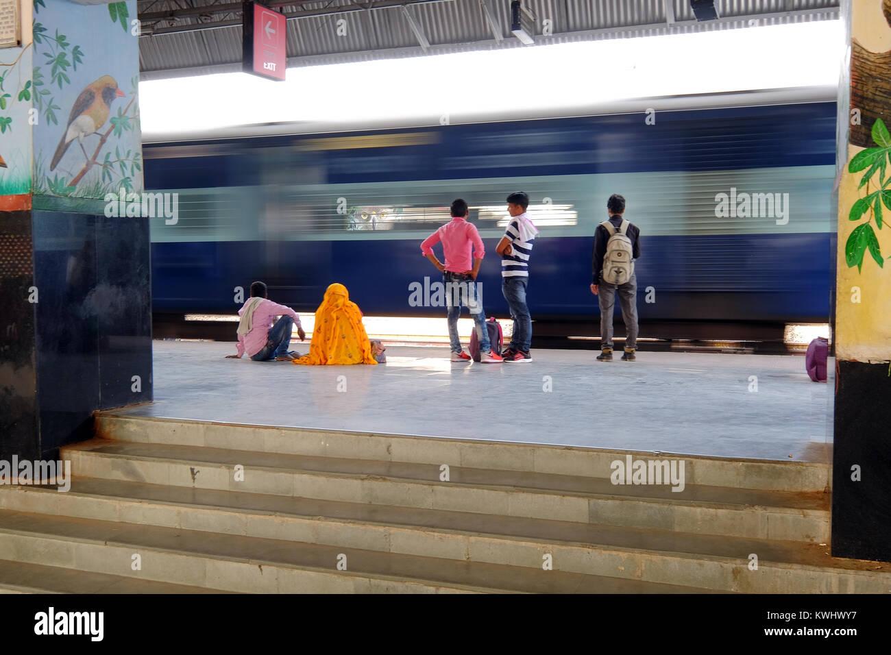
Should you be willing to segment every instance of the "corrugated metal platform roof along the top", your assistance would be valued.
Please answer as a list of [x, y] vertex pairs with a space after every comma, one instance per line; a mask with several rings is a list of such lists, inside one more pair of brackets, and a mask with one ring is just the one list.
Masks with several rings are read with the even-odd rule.
[[[143, 79], [241, 70], [241, 3], [137, 0], [137, 4]], [[702, 22], [696, 20], [690, 0], [523, 0], [535, 16], [535, 44], [523, 45], [511, 34], [510, 0], [264, 4], [288, 17], [288, 66], [688, 34], [833, 20], [839, 15], [838, 0], [715, 0], [720, 18]]]

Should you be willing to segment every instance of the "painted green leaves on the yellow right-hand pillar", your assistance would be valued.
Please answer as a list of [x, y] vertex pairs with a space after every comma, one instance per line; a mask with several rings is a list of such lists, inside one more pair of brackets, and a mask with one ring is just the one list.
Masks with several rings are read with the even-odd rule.
[[[878, 147], [858, 152], [847, 164], [848, 173], [866, 171], [857, 188], [862, 189], [865, 186], [867, 193], [864, 197], [854, 201], [847, 215], [848, 220], [851, 221], [862, 221], [866, 217], [866, 222], [854, 227], [854, 231], [848, 236], [845, 243], [847, 266], [848, 268], [857, 266], [858, 272], [863, 270], [863, 258], [867, 251], [880, 268], [885, 267], [885, 258], [882, 257], [879, 237], [872, 228], [872, 219], [875, 218], [876, 227], [880, 230], [885, 223], [882, 206], [884, 205], [885, 209], [891, 211], [891, 189], [886, 188], [891, 184], [891, 175], [885, 176], [887, 164], [891, 161], [891, 133], [888, 132], [882, 119], [876, 119], [871, 135], [873, 143]], [[878, 181], [874, 179], [877, 173], [879, 174]], [[873, 184], [878, 186], [875, 191], [871, 191]]]

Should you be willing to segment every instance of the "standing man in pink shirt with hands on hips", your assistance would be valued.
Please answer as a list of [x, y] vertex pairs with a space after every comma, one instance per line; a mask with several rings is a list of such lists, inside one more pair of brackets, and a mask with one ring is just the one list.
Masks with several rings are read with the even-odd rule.
[[[448, 307], [448, 336], [452, 346], [453, 362], [469, 362], [470, 355], [461, 347], [458, 339], [458, 316], [462, 305], [470, 310], [476, 323], [479, 340], [479, 361], [495, 364], [503, 361], [502, 356], [492, 351], [489, 332], [486, 329], [486, 313], [477, 288], [479, 265], [483, 263], [486, 249], [479, 238], [477, 228], [467, 222], [470, 211], [467, 203], [460, 198], [452, 203], [452, 220], [440, 227], [421, 243], [421, 253], [442, 271], [446, 287], [446, 307]], [[441, 264], [433, 254], [433, 246], [443, 243], [446, 263]], [[472, 264], [471, 264], [472, 259]]]

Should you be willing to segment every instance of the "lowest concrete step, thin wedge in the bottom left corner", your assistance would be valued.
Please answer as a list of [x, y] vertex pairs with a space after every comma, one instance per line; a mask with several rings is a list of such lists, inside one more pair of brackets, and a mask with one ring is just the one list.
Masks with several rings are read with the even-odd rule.
[[0, 560], [0, 594], [225, 594], [219, 589]]

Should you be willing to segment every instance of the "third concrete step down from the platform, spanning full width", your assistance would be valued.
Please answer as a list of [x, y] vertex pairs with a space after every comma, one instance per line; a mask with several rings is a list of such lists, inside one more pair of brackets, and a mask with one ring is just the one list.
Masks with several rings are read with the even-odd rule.
[[[887, 593], [877, 562], [832, 558], [824, 544], [706, 536], [475, 512], [75, 479], [8, 487], [0, 507], [159, 528], [228, 533], [353, 550], [511, 566], [537, 575], [545, 554], [562, 572], [749, 593]], [[757, 569], [751, 569], [751, 555]], [[877, 569], [877, 567], [879, 567]]]

